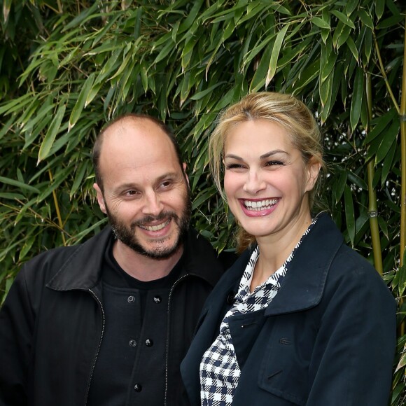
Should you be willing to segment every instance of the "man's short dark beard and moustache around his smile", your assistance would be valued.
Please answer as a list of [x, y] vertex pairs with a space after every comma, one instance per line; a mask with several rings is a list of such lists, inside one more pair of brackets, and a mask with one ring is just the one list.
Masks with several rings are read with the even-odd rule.
[[[111, 213], [109, 207], [106, 205], [106, 214], [109, 218], [109, 222], [111, 225], [111, 229], [116, 237], [119, 239], [123, 244], [130, 247], [133, 251], [140, 253], [141, 255], [145, 255], [148, 258], [153, 258], [156, 260], [163, 260], [170, 258], [176, 251], [178, 251], [179, 247], [183, 244], [183, 239], [188, 232], [189, 223], [190, 223], [190, 216], [192, 212], [192, 202], [190, 200], [190, 190], [186, 186], [186, 195], [185, 195], [185, 208], [182, 211], [181, 216], [177, 216], [174, 211], [162, 211], [159, 216], [146, 216], [141, 218], [140, 220], [134, 221], [130, 224], [130, 227], [127, 224], [120, 221], [115, 215]], [[176, 237], [176, 241], [172, 246], [167, 248], [144, 248], [142, 244], [136, 237], [136, 230], [139, 225], [146, 225], [153, 221], [163, 221], [169, 220], [174, 221], [178, 226], [178, 235]], [[163, 243], [164, 240], [162, 240]]]

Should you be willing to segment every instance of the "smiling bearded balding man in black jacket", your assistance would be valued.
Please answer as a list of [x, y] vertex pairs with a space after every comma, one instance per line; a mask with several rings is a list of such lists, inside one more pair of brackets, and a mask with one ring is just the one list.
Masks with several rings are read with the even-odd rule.
[[167, 127], [118, 118], [94, 145], [111, 228], [27, 262], [0, 312], [0, 405], [187, 405], [179, 365], [222, 273], [189, 228]]

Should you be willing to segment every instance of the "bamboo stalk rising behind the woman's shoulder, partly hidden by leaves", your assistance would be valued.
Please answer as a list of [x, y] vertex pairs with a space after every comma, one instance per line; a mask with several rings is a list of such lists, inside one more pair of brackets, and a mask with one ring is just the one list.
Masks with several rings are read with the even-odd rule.
[[[370, 73], [365, 73], [365, 94], [367, 100], [367, 127], [365, 132], [370, 132], [370, 123], [372, 120], [372, 85]], [[370, 159], [367, 163], [367, 176], [368, 176], [368, 215], [370, 216], [370, 230], [372, 238], [372, 252], [374, 254], [374, 267], [379, 274], [384, 274], [384, 265], [382, 263], [381, 251], [381, 238], [379, 237], [379, 224], [378, 224], [378, 204], [377, 193], [374, 190], [372, 181], [374, 179], [374, 160]]]

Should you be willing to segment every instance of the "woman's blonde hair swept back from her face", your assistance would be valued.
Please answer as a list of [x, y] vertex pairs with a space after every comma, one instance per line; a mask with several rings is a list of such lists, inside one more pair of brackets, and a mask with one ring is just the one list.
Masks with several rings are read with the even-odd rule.
[[[209, 160], [214, 183], [223, 199], [222, 188], [223, 152], [227, 134], [239, 123], [249, 120], [269, 120], [283, 127], [300, 153], [305, 163], [314, 158], [322, 168], [323, 147], [321, 133], [311, 111], [300, 100], [290, 94], [258, 92], [247, 94], [240, 102], [226, 109], [218, 118], [218, 123], [209, 141]], [[317, 185], [317, 184], [316, 184]], [[309, 207], [313, 207], [315, 190], [309, 192]], [[237, 242], [239, 251], [255, 241], [240, 228]]]

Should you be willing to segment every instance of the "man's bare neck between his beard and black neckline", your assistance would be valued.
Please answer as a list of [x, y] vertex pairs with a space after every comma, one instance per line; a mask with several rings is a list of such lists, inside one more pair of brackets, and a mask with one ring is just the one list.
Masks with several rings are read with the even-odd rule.
[[155, 281], [164, 278], [172, 271], [183, 253], [183, 246], [165, 259], [149, 258], [146, 255], [133, 251], [121, 241], [114, 241], [113, 256], [118, 265], [130, 276], [139, 281]]

